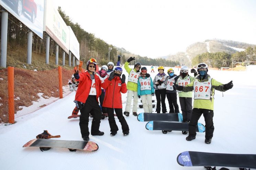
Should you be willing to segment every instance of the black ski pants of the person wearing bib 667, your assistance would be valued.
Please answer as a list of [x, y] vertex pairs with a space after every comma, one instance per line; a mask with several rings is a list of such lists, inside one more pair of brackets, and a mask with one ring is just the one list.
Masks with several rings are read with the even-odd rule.
[[211, 139], [213, 137], [213, 110], [193, 108], [192, 116], [189, 122], [188, 132], [189, 136], [196, 136], [197, 123], [203, 114], [205, 121], [205, 138]]

